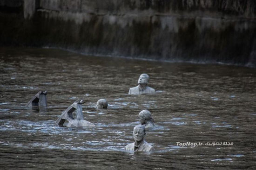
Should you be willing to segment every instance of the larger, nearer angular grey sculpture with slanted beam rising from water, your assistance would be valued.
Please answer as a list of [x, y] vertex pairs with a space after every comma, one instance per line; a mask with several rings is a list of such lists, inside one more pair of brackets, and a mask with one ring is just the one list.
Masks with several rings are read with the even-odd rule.
[[[83, 127], [89, 126], [94, 127], [95, 125], [91, 122], [84, 120], [82, 112], [83, 100], [77, 100], [72, 105], [67, 107], [67, 109], [61, 113], [61, 116], [58, 118], [54, 126], [63, 126], [64, 122], [67, 120], [67, 127]], [[75, 112], [75, 119], [73, 117], [73, 112]]]

